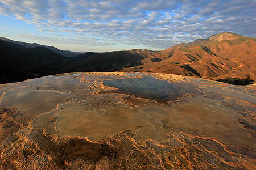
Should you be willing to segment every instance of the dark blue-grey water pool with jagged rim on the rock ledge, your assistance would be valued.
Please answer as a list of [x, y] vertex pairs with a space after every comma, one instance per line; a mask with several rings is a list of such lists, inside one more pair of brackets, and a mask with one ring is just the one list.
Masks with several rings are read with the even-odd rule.
[[153, 78], [152, 76], [143, 76], [143, 78], [133, 79], [104, 80], [103, 85], [118, 88], [118, 90], [107, 92], [134, 95], [135, 97], [155, 100], [159, 103], [176, 101], [184, 95], [204, 95], [203, 92], [197, 90], [194, 84], [169, 82], [167, 80]]

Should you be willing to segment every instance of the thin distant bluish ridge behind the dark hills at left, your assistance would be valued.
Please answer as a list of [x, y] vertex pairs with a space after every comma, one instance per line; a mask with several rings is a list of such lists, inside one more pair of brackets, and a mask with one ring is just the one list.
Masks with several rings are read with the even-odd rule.
[[20, 41], [13, 41], [13, 40], [10, 40], [10, 39], [4, 38], [4, 37], [0, 37], [0, 40], [18, 44], [18, 45], [24, 46], [26, 48], [35, 48], [35, 47], [48, 48], [52, 52], [60, 54], [61, 56], [64, 56], [64, 57], [75, 57], [75, 56], [78, 56], [78, 55], [84, 53], [84, 52], [71, 52], [68, 50], [60, 50], [60, 49], [55, 48], [54, 46], [41, 45], [41, 44], [37, 44], [37, 43], [26, 43], [26, 42], [20, 42]]

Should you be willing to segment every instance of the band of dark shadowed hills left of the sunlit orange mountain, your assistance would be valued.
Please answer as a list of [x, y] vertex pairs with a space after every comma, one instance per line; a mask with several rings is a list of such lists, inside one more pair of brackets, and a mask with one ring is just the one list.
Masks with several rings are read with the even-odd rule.
[[48, 48], [26, 48], [0, 40], [0, 83], [19, 82], [73, 71], [118, 71], [141, 65], [144, 57], [131, 52], [87, 52], [63, 57]]

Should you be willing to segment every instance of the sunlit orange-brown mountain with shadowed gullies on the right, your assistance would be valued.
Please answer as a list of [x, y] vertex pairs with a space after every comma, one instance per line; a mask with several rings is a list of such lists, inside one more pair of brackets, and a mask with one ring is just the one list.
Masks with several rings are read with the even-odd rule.
[[256, 80], [255, 50], [255, 38], [223, 32], [207, 39], [177, 44], [150, 56], [158, 58], [162, 54], [166, 59], [122, 71], [179, 74], [247, 84]]

